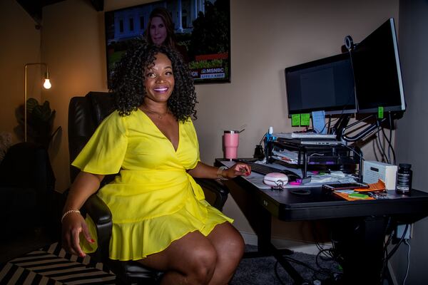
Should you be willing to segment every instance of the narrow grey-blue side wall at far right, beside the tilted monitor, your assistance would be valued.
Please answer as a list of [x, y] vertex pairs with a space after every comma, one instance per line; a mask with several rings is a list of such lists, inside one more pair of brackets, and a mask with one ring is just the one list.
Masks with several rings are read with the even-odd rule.
[[[424, 121], [428, 115], [428, 2], [426, 0], [399, 1], [399, 48], [402, 60], [404, 93], [407, 110], [398, 121], [397, 163], [411, 163], [414, 189], [428, 191], [427, 158], [428, 134]], [[422, 124], [421, 124], [422, 123]], [[410, 245], [410, 268], [407, 284], [428, 284], [427, 269], [428, 219], [414, 224]], [[402, 245], [392, 259], [397, 281], [401, 283], [407, 269], [408, 247]]]

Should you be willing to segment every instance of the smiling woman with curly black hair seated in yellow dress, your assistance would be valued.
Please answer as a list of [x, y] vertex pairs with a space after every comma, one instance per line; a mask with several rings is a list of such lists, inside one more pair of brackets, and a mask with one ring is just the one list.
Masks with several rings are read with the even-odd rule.
[[[205, 201], [193, 177], [249, 175], [199, 160], [193, 79], [178, 53], [138, 40], [113, 78], [117, 110], [73, 161], [81, 169], [63, 209], [63, 247], [84, 256], [96, 248], [91, 219], [78, 209], [104, 175], [120, 174], [98, 191], [113, 216], [111, 259], [138, 260], [165, 271], [161, 284], [227, 284], [243, 239]], [[84, 238], [79, 239], [82, 233]]]

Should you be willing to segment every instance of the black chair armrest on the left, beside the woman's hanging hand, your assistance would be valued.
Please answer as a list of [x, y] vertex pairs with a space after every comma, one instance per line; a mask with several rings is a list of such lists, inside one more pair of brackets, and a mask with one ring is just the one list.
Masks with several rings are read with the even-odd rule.
[[98, 249], [95, 253], [95, 258], [98, 261], [108, 259], [111, 230], [113, 228], [110, 209], [96, 194], [91, 195], [86, 200], [85, 204], [83, 204], [83, 209], [91, 217], [96, 227]]

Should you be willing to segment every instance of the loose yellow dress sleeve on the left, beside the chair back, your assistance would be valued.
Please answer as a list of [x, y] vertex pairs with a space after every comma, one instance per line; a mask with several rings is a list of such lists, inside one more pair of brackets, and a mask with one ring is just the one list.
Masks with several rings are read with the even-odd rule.
[[71, 165], [94, 174], [118, 173], [128, 145], [125, 120], [117, 111], [108, 115]]

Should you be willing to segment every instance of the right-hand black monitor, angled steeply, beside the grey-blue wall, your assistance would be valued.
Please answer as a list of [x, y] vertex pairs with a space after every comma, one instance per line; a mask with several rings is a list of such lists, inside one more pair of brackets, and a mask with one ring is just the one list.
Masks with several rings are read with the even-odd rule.
[[389, 19], [352, 51], [358, 113], [404, 111], [402, 75], [394, 19]]

